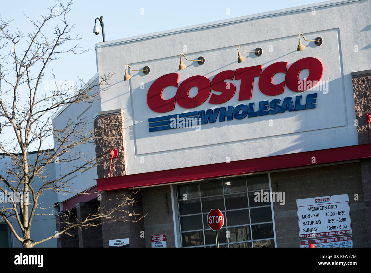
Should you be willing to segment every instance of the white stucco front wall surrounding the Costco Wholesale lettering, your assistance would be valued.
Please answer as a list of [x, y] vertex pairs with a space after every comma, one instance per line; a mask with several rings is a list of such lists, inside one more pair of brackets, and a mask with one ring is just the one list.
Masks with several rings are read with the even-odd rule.
[[[115, 73], [109, 91], [101, 92], [102, 111], [124, 108], [125, 127], [135, 124], [125, 129], [127, 174], [225, 162], [227, 157], [234, 161], [358, 144], [350, 73], [371, 68], [370, 13], [369, 0], [328, 1], [98, 43], [99, 74]], [[311, 40], [321, 36], [324, 43], [315, 46], [314, 42], [302, 39], [307, 48], [296, 51], [299, 33]], [[256, 57], [253, 53], [241, 52], [248, 57], [238, 63], [237, 45], [245, 51], [260, 47], [263, 55]], [[187, 46], [187, 52], [183, 51], [184, 46]], [[355, 46], [358, 46], [358, 52], [355, 52]], [[178, 71], [180, 53], [185, 53], [188, 59], [204, 56], [206, 62], [198, 65], [183, 58], [188, 66]], [[226, 82], [236, 85], [236, 93], [221, 105], [209, 104], [210, 96], [192, 109], [175, 103], [175, 109], [167, 113], [156, 113], [147, 105], [148, 88], [155, 79], [168, 73], [179, 74], [179, 86], [194, 75], [203, 75], [211, 81], [224, 70], [253, 65], [263, 65], [264, 70], [279, 61], [287, 61], [289, 68], [293, 62], [305, 57], [318, 58], [324, 64], [322, 80], [329, 81], [328, 93], [311, 90], [298, 93], [285, 86], [283, 94], [270, 97], [259, 91], [259, 77], [256, 77], [251, 100], [238, 101], [240, 80], [233, 79]], [[132, 78], [124, 81], [126, 63], [132, 69], [150, 66], [151, 72], [144, 75], [141, 71], [129, 71]], [[301, 77], [307, 75], [308, 72], [301, 72]], [[283, 73], [276, 74], [273, 83], [278, 84], [284, 76]], [[141, 89], [142, 83], [144, 89]], [[173, 97], [176, 90], [175, 87], [165, 88], [164, 99]], [[148, 118], [152, 117], [241, 103], [257, 104], [274, 98], [280, 98], [282, 102], [285, 97], [303, 95], [305, 98], [306, 94], [314, 92], [318, 93], [316, 109], [223, 123], [217, 121], [202, 125], [199, 131], [190, 128], [148, 131]], [[195, 95], [197, 88], [193, 87], [191, 93]], [[211, 90], [213, 93], [219, 94]], [[273, 126], [268, 124], [270, 119]]]

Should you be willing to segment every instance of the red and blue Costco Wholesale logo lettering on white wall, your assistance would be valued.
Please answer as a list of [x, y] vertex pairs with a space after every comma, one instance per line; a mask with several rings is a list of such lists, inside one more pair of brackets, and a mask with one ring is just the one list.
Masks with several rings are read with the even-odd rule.
[[[147, 93], [147, 104], [151, 110], [157, 113], [166, 113], [174, 110], [175, 103], [185, 109], [195, 108], [203, 104], [210, 95], [211, 90], [220, 92], [220, 94], [211, 94], [209, 104], [223, 104], [229, 101], [236, 92], [236, 86], [233, 83], [229, 85], [225, 80], [241, 80], [240, 90], [238, 91], [238, 100], [245, 101], [252, 99], [253, 81], [259, 77], [259, 90], [267, 96], [276, 96], [283, 93], [286, 87], [294, 92], [303, 92], [315, 87], [321, 80], [324, 66], [317, 58], [302, 58], [294, 62], [287, 69], [288, 62], [276, 62], [267, 66], [262, 72], [262, 65], [238, 68], [236, 70], [222, 71], [214, 76], [210, 82], [204, 76], [192, 76], [185, 79], [178, 87], [179, 74], [170, 73], [163, 75], [155, 80]], [[309, 70], [309, 76], [305, 80], [299, 79], [299, 72], [303, 69]], [[275, 74], [285, 73], [285, 80], [279, 84], [273, 84], [272, 78]], [[174, 97], [164, 100], [162, 91], [165, 87], [177, 87]], [[197, 87], [198, 92], [195, 97], [190, 97], [188, 92], [192, 87]], [[207, 110], [198, 110], [188, 113], [172, 114], [169, 116], [149, 118], [149, 131], [161, 131], [179, 127], [192, 127], [195, 123], [206, 124], [219, 121], [243, 119], [246, 116], [257, 117], [264, 115], [274, 115], [284, 113], [285, 111], [299, 111], [316, 108], [317, 93], [307, 94], [306, 97], [297, 95], [294, 98], [285, 97], [281, 99], [259, 101], [248, 104], [230, 105], [227, 107], [210, 108]], [[269, 98], [269, 97], [268, 97]], [[179, 126], [180, 124], [185, 126]], [[187, 124], [184, 124], [187, 123]]]

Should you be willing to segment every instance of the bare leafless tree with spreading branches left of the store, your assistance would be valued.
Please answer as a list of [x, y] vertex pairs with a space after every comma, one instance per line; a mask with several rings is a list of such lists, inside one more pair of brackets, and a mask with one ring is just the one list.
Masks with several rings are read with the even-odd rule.
[[[76, 153], [79, 145], [102, 143], [119, 140], [122, 128], [107, 130], [104, 126], [93, 129], [87, 118], [77, 121], [68, 120], [62, 128], [52, 124], [51, 117], [58, 109], [71, 104], [93, 103], [99, 97], [99, 88], [107, 88], [112, 74], [99, 75], [97, 84], [85, 84], [78, 78], [73, 92], [56, 84], [53, 90], [43, 90], [42, 82], [47, 73], [47, 66], [60, 58], [62, 54], [81, 54], [86, 50], [79, 48], [73, 41], [81, 36], [72, 36], [74, 25], [66, 15], [70, 11], [71, 1], [66, 4], [58, 1], [48, 9], [40, 20], [29, 17], [33, 30], [26, 35], [20, 30], [10, 31], [10, 21], [0, 18], [0, 153], [8, 159], [0, 175], [0, 193], [10, 202], [0, 207], [0, 222], [6, 222], [14, 236], [23, 247], [33, 247], [60, 234], [69, 234], [72, 228], [87, 228], [106, 221], [132, 221], [126, 217], [116, 217], [116, 212], [138, 215], [128, 211], [128, 205], [135, 202], [134, 194], [123, 195], [114, 209], [99, 208], [96, 214], [77, 222], [70, 211], [66, 211], [63, 227], [56, 234], [50, 234], [40, 241], [33, 241], [30, 236], [32, 221], [38, 215], [58, 215], [49, 212], [40, 204], [39, 198], [47, 191], [57, 194], [76, 193], [66, 178], [73, 173], [90, 169], [97, 164], [109, 161], [109, 152], [101, 155]], [[55, 22], [52, 34], [48, 33], [49, 23]], [[70, 45], [70, 43], [74, 45]], [[24, 50], [17, 47], [26, 44]], [[6, 53], [5, 53], [6, 52]], [[53, 72], [52, 77], [55, 80]], [[4, 134], [11, 132], [13, 139], [2, 140]], [[42, 144], [47, 137], [53, 136], [56, 147], [43, 150]], [[114, 147], [112, 147], [114, 148]], [[36, 149], [36, 159], [30, 159], [29, 150]], [[83, 159], [83, 160], [81, 160]], [[69, 172], [51, 177], [46, 173], [47, 165], [58, 161], [69, 165]], [[83, 163], [81, 163], [83, 162]], [[35, 183], [41, 181], [42, 183]], [[37, 185], [35, 187], [35, 185]], [[16, 198], [12, 192], [22, 192], [26, 198]], [[83, 192], [82, 192], [83, 193]], [[45, 213], [42, 210], [45, 209]], [[41, 212], [40, 212], [41, 211]], [[13, 218], [13, 219], [11, 219]], [[14, 220], [14, 221], [13, 221]], [[14, 225], [19, 225], [22, 234], [17, 234]]]

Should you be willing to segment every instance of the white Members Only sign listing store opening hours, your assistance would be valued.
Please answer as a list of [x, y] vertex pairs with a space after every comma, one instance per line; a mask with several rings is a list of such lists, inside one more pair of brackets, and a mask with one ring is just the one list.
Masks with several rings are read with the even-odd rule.
[[348, 194], [297, 199], [300, 238], [351, 234]]

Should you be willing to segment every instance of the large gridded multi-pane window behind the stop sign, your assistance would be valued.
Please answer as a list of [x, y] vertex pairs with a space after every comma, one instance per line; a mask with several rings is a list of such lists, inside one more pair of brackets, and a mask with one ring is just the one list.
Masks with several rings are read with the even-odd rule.
[[218, 231], [219, 247], [275, 246], [267, 174], [213, 179], [177, 187], [183, 247], [216, 246], [215, 231], [207, 224], [207, 214], [214, 208], [220, 209], [224, 216], [224, 225]]

